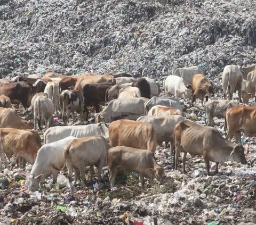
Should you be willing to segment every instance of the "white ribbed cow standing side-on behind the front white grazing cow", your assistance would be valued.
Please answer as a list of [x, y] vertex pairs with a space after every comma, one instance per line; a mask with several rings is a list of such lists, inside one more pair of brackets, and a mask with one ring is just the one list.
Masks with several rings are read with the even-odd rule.
[[104, 122], [79, 126], [51, 127], [44, 132], [44, 144], [52, 143], [68, 136], [81, 138], [100, 135], [108, 141], [108, 127], [109, 123]]

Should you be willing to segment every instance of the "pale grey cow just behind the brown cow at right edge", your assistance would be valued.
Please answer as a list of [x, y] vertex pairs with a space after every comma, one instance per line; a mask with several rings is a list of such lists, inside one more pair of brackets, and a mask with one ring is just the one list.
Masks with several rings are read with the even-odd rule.
[[236, 100], [226, 100], [226, 99], [212, 99], [204, 104], [205, 106], [205, 117], [204, 121], [206, 123], [206, 114], [208, 117], [208, 122], [206, 123], [208, 126], [214, 127], [215, 123], [213, 121], [214, 117], [218, 119], [224, 118], [226, 111], [239, 105]]

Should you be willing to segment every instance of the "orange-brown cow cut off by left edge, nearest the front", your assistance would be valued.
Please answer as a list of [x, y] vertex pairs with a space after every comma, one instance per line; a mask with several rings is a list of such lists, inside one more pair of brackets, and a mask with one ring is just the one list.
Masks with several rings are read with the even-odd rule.
[[11, 161], [11, 168], [17, 162], [19, 157], [34, 163], [35, 154], [41, 147], [41, 139], [35, 130], [19, 130], [14, 128], [0, 128], [0, 170], [2, 170], [2, 162], [9, 169], [7, 158]]

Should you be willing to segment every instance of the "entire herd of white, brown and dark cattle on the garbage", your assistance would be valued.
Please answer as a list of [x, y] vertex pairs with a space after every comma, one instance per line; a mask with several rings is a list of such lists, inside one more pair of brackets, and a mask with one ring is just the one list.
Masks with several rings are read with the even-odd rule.
[[[187, 153], [192, 157], [203, 156], [207, 175], [210, 161], [216, 163], [215, 173], [219, 163], [228, 160], [245, 164], [241, 132], [256, 135], [256, 107], [239, 102], [247, 104], [255, 96], [255, 69], [255, 65], [225, 66], [222, 74], [225, 99], [209, 101], [214, 96], [214, 85], [198, 66], [179, 68], [168, 76], [164, 81], [166, 97], [158, 96], [154, 79], [135, 79], [126, 73], [114, 76], [85, 73], [75, 77], [50, 72], [41, 79], [35, 75], [2, 79], [0, 169], [33, 164], [26, 185], [35, 191], [44, 178], [52, 175], [54, 183], [59, 171], [65, 169], [70, 182], [74, 172], [75, 184], [78, 181], [84, 185], [86, 166], [90, 166], [92, 182], [94, 165], [98, 168], [99, 182], [103, 166], [108, 166], [111, 188], [119, 168], [139, 173], [142, 188], [145, 177], [150, 181], [156, 178], [162, 184], [165, 173], [156, 161], [155, 151], [163, 143], [165, 146], [170, 143], [175, 170], [180, 152], [183, 152], [184, 172]], [[232, 100], [236, 90], [239, 102]], [[180, 98], [191, 99], [194, 104], [198, 98], [205, 107], [209, 127], [186, 119]], [[18, 103], [25, 108], [26, 118], [15, 111], [13, 104]], [[84, 125], [67, 126], [70, 114], [75, 122], [75, 112]], [[94, 113], [95, 123], [88, 123], [90, 113]], [[54, 114], [61, 116], [65, 126], [51, 127]], [[214, 117], [225, 118], [226, 138], [214, 128]], [[47, 130], [42, 145], [37, 130], [43, 126]], [[231, 141], [233, 136], [235, 142]]]

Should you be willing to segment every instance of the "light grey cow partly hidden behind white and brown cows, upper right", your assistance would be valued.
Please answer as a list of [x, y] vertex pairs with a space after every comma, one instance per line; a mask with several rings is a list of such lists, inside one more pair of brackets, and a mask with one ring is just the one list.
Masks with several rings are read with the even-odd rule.
[[182, 77], [186, 86], [192, 83], [195, 74], [204, 74], [204, 70], [199, 66], [190, 66], [188, 68], [178, 68], [173, 73], [173, 75]]

